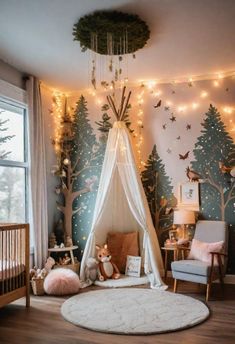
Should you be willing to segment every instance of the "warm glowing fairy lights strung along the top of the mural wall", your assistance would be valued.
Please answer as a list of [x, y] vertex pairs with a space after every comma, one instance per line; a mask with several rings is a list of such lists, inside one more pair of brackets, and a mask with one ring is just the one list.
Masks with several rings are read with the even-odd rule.
[[[229, 73], [216, 73], [210, 76], [200, 76], [199, 77], [190, 77], [188, 79], [178, 79], [178, 80], [166, 80], [157, 81], [157, 80], [140, 80], [137, 83], [131, 84], [128, 82], [128, 79], [121, 81], [119, 84], [119, 88], [121, 88], [124, 84], [131, 87], [134, 91], [134, 97], [132, 97], [131, 105], [132, 105], [132, 114], [133, 115], [132, 123], [135, 126], [135, 130], [133, 136], [135, 138], [135, 147], [136, 147], [136, 155], [137, 155], [137, 163], [138, 168], [141, 170], [145, 166], [145, 162], [143, 161], [142, 157], [142, 148], [144, 144], [144, 137], [143, 137], [143, 129], [144, 129], [144, 103], [146, 101], [147, 96], [153, 97], [154, 100], [161, 100], [163, 107], [171, 107], [174, 108], [174, 112], [178, 114], [185, 114], [189, 111], [197, 110], [199, 106], [202, 104], [203, 100], [209, 99], [210, 91], [209, 89], [200, 89], [197, 90], [196, 96], [194, 96], [193, 101], [187, 103], [177, 103], [177, 100], [173, 100], [172, 97], [164, 97], [162, 86], [169, 84], [172, 86], [172, 89], [177, 89], [177, 85], [182, 85], [182, 83], [186, 83], [187, 87], [194, 87], [197, 81], [208, 80], [208, 85], [212, 86], [213, 88], [220, 88], [223, 85], [223, 80], [225, 78], [232, 78], [235, 81], [235, 72]], [[226, 89], [229, 91], [229, 89]], [[88, 90], [88, 94], [92, 95], [95, 98], [95, 104], [99, 107], [106, 103], [106, 97], [104, 96], [107, 92], [113, 92], [113, 86], [110, 85], [109, 89], [100, 89], [100, 90]], [[174, 93], [174, 91], [172, 91]], [[62, 138], [63, 132], [63, 124], [62, 124], [62, 116], [64, 111], [64, 102], [65, 102], [66, 95], [59, 91], [53, 92], [53, 102], [52, 102], [52, 114], [54, 117], [55, 123], [55, 131], [54, 131], [54, 147], [57, 154], [59, 154], [60, 149], [60, 142]], [[227, 122], [229, 123], [228, 132], [234, 136], [235, 132], [235, 104], [227, 104], [222, 106], [220, 109], [221, 113], [226, 116]], [[133, 120], [134, 119], [134, 120]]]

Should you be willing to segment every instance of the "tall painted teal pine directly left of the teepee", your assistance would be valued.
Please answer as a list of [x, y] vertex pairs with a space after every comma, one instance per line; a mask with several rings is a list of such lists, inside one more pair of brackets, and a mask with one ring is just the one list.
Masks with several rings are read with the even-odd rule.
[[83, 96], [76, 104], [72, 131], [74, 140], [71, 161], [75, 165], [73, 190], [76, 192], [88, 186], [90, 191], [79, 195], [73, 204], [73, 239], [79, 245], [82, 254], [91, 229], [97, 182], [103, 162], [103, 154], [93, 133], [88, 118], [87, 102]]

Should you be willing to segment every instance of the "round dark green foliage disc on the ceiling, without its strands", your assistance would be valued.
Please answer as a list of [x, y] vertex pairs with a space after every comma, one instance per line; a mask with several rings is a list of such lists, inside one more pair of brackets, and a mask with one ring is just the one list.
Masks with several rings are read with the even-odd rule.
[[[113, 55], [134, 53], [143, 48], [150, 37], [147, 24], [134, 14], [118, 11], [96, 11], [79, 19], [73, 26], [75, 41], [79, 41], [82, 51], [94, 50], [92, 34], [96, 34], [96, 52], [108, 55], [107, 34], [112, 35]], [[127, 41], [123, 49], [123, 40]]]

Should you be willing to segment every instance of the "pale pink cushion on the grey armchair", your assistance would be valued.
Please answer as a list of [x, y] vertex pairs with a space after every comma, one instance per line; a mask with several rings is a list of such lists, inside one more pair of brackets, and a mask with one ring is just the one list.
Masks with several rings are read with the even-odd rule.
[[[211, 264], [210, 252], [221, 252], [223, 250], [223, 247], [224, 241], [208, 243], [193, 239], [187, 259], [197, 259], [202, 262]], [[214, 264], [218, 265], [217, 256], [215, 256]]]

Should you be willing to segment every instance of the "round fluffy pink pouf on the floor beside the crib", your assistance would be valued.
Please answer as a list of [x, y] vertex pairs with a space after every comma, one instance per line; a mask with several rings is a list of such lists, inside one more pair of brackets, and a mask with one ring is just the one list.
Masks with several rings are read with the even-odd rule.
[[44, 290], [49, 295], [76, 294], [79, 287], [79, 277], [70, 269], [51, 270], [44, 281]]

